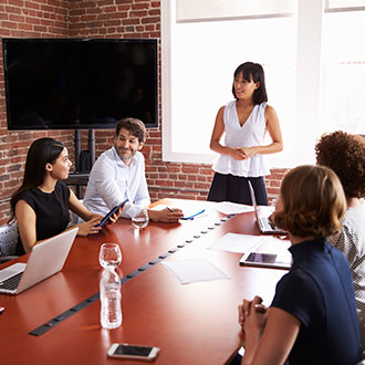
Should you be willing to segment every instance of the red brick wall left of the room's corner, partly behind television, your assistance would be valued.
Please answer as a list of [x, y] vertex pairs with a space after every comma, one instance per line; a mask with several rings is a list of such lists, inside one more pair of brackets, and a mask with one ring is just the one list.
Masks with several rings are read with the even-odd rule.
[[[59, 38], [69, 34], [67, 0], [2, 0], [0, 3], [0, 36]], [[70, 146], [73, 156], [73, 132], [8, 132], [3, 82], [3, 60], [0, 52], [0, 225], [9, 217], [9, 197], [23, 176], [23, 164], [30, 144], [52, 136]]]

